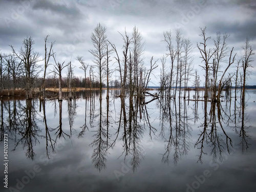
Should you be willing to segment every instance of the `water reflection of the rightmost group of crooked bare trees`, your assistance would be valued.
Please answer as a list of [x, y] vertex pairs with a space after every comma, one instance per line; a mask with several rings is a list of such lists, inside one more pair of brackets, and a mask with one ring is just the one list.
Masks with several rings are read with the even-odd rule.
[[[241, 101], [240, 101], [241, 102]], [[202, 124], [203, 131], [199, 135], [199, 138], [195, 144], [200, 148], [199, 162], [202, 163], [202, 156], [207, 155], [203, 151], [204, 144], [211, 147], [211, 153], [213, 161], [217, 160], [223, 161], [224, 158], [222, 154], [224, 151], [230, 152], [230, 147], [233, 147], [232, 140], [226, 132], [226, 127], [234, 127], [235, 132], [239, 134], [241, 138], [240, 145], [242, 146], [242, 151], [248, 148], [248, 138], [245, 127], [245, 103], [239, 103], [239, 101], [234, 101], [234, 110], [231, 106], [231, 97], [225, 102], [211, 102], [209, 119], [207, 116], [207, 101], [204, 101], [204, 123]], [[233, 126], [231, 125], [233, 124]], [[208, 129], [209, 127], [209, 129]]]

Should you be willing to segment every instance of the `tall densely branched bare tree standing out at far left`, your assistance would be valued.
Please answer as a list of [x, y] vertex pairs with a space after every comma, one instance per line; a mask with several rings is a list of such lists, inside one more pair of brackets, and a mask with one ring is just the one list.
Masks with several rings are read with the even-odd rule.
[[33, 89], [33, 83], [34, 83], [34, 77], [36, 76], [36, 73], [39, 73], [38, 68], [38, 61], [40, 61], [39, 53], [34, 52], [33, 45], [35, 44], [32, 37], [27, 37], [23, 41], [24, 48], [20, 48], [19, 52], [16, 52], [14, 50], [13, 46], [10, 46], [12, 48], [13, 54], [16, 55], [21, 61], [22, 61], [22, 68], [25, 74], [26, 78], [26, 96], [27, 99], [32, 98], [32, 89]]

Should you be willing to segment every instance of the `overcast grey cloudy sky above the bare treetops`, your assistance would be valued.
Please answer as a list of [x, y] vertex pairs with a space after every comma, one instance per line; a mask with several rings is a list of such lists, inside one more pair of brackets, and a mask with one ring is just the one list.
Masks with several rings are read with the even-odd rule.
[[[243, 54], [242, 46], [248, 37], [252, 49], [256, 49], [256, 1], [254, 0], [1, 0], [0, 2], [0, 52], [11, 53], [10, 45], [15, 50], [22, 47], [26, 37], [35, 41], [34, 50], [44, 58], [44, 39], [55, 41], [53, 47], [56, 60], [72, 62], [74, 74], [83, 77], [79, 69], [77, 56], [94, 65], [91, 34], [100, 23], [106, 28], [110, 42], [120, 51], [123, 46], [124, 31], [131, 37], [136, 26], [145, 41], [144, 65], [150, 65], [153, 56], [159, 67], [153, 72], [150, 86], [159, 86], [161, 62], [160, 57], [167, 53], [163, 40], [163, 32], [171, 31], [173, 40], [179, 29], [184, 38], [193, 43], [194, 70], [199, 71], [200, 79], [204, 79], [202, 59], [197, 42], [202, 41], [200, 27], [206, 27], [206, 35], [211, 39], [207, 48], [213, 48], [213, 39], [217, 32], [228, 33], [229, 50], [234, 48], [236, 61]], [[255, 51], [254, 51], [255, 52]], [[112, 55], [112, 57], [115, 55]], [[228, 59], [228, 58], [227, 58]], [[255, 55], [254, 55], [254, 59]], [[115, 68], [115, 59], [112, 66]], [[51, 60], [53, 63], [53, 60]], [[256, 61], [251, 63], [255, 65]], [[42, 64], [42, 63], [41, 63]], [[169, 65], [167, 58], [166, 64]], [[236, 63], [234, 63], [236, 64]], [[226, 63], [222, 64], [223, 66]], [[223, 70], [224, 71], [224, 70]], [[234, 71], [234, 66], [229, 72]], [[256, 84], [256, 68], [249, 69], [250, 78], [247, 84]], [[64, 71], [65, 76], [67, 69]], [[89, 73], [88, 73], [89, 74]], [[112, 79], [115, 78], [114, 73]], [[49, 74], [52, 75], [52, 74]]]

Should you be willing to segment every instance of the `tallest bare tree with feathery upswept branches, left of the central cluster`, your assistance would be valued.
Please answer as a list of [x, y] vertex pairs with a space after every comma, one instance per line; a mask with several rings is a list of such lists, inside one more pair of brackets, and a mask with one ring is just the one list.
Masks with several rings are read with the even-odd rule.
[[98, 68], [99, 81], [100, 81], [100, 90], [102, 90], [102, 75], [105, 67], [104, 57], [106, 56], [106, 28], [101, 26], [100, 23], [94, 29], [94, 32], [91, 35], [91, 40], [93, 42], [94, 49], [91, 49], [89, 52], [94, 56], [93, 62]]

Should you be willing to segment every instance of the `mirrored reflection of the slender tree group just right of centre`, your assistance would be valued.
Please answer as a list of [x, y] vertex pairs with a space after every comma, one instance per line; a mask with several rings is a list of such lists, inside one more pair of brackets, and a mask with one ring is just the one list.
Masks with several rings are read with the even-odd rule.
[[162, 103], [164, 105], [161, 105], [160, 108], [162, 111], [160, 112], [162, 114], [160, 135], [167, 143], [165, 144], [165, 153], [162, 154], [162, 161], [169, 163], [169, 155], [173, 150], [173, 159], [176, 165], [182, 156], [188, 154], [190, 146], [191, 127], [188, 123], [186, 102], [184, 100], [182, 104], [180, 98], [178, 100], [168, 98], [168, 101]]

